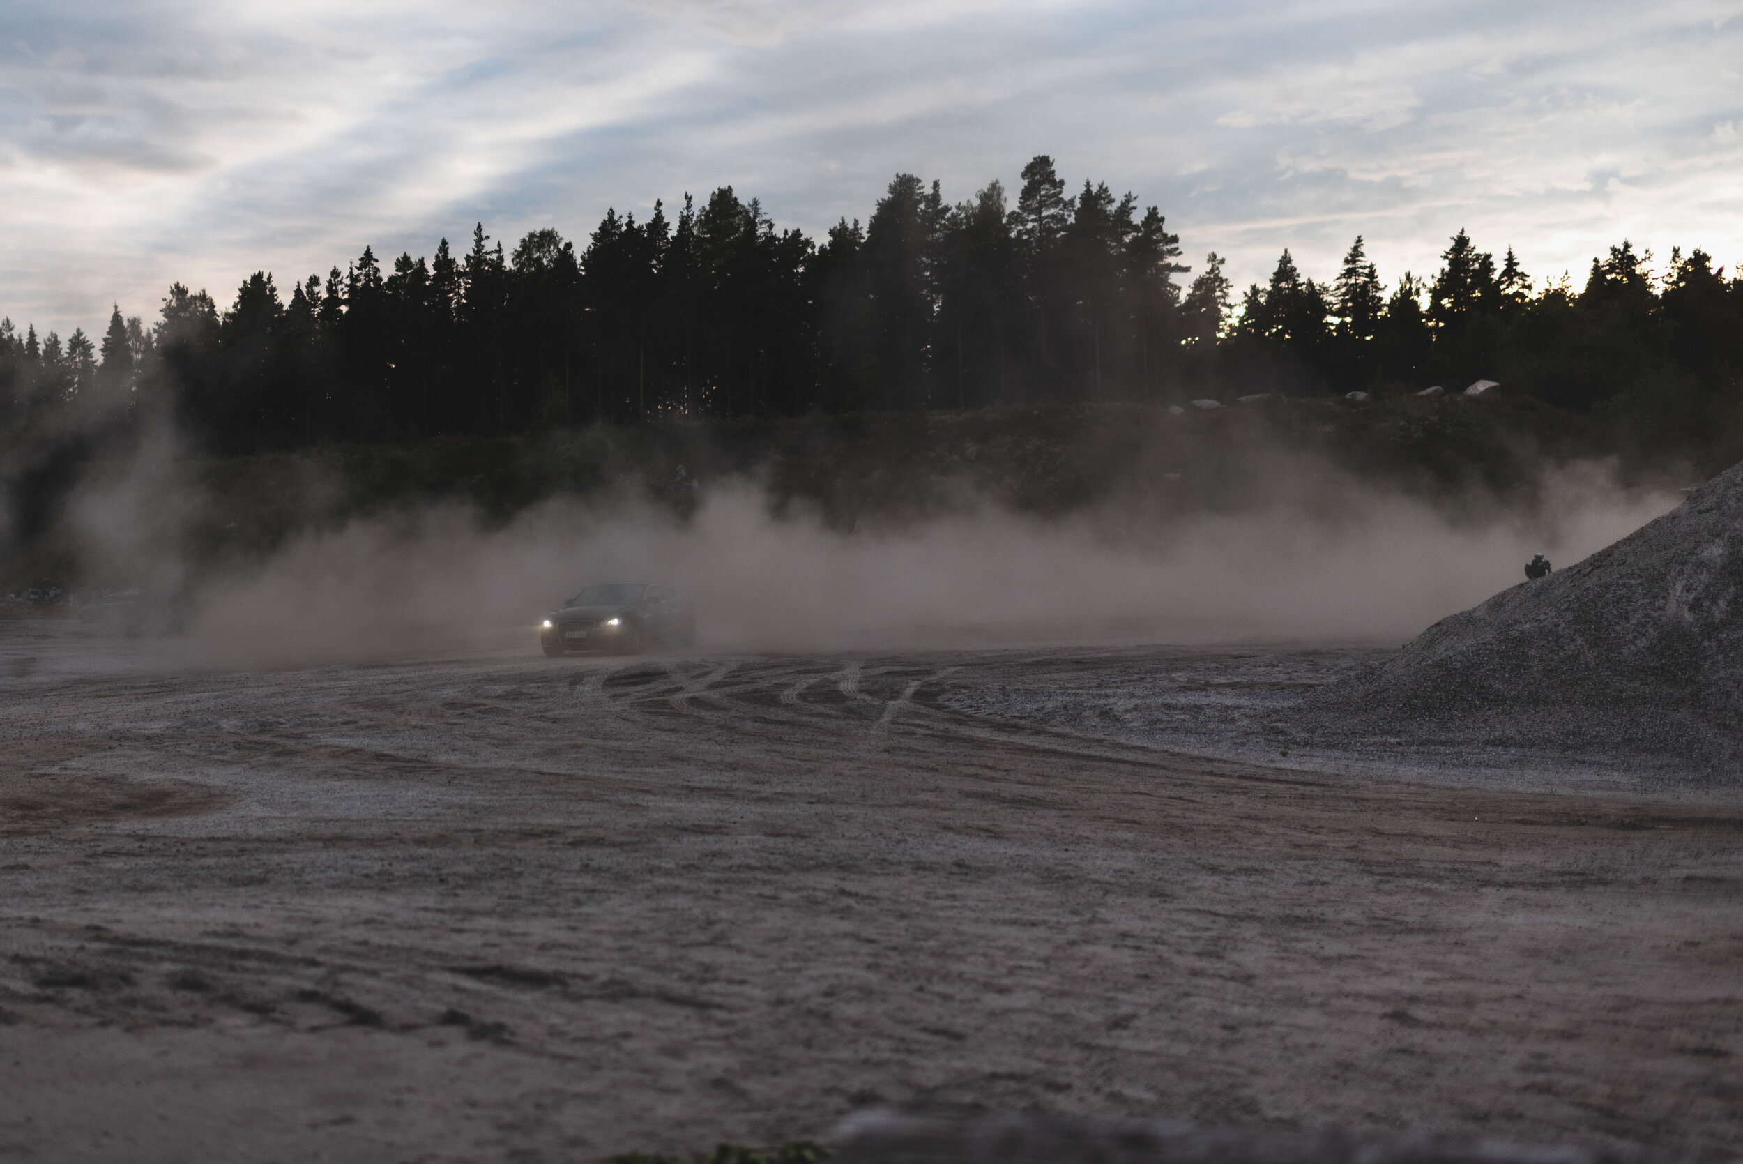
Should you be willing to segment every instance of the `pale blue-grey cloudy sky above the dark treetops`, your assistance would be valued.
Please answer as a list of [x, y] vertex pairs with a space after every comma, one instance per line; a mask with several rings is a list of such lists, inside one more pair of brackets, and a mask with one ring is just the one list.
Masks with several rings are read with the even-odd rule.
[[7, 0], [0, 314], [101, 331], [371, 244], [584, 244], [730, 183], [783, 227], [912, 171], [1051, 153], [1197, 267], [1431, 274], [1466, 227], [1539, 281], [1623, 237], [1743, 261], [1738, 0]]

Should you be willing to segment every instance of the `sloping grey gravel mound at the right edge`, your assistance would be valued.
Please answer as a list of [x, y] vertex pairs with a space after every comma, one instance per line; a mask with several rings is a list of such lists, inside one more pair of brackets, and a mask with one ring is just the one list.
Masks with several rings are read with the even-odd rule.
[[1738, 784], [1743, 464], [1583, 563], [1441, 619], [1300, 704], [1323, 741], [1618, 753]]

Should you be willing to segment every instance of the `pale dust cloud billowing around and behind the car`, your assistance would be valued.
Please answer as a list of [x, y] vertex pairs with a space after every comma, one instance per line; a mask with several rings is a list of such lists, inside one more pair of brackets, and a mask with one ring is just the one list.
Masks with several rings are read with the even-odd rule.
[[1163, 519], [1110, 504], [1039, 519], [969, 498], [840, 533], [802, 509], [777, 518], [756, 481], [730, 479], [687, 521], [627, 493], [549, 500], [500, 528], [434, 505], [298, 533], [265, 559], [199, 573], [166, 549], [199, 509], [171, 453], [146, 443], [131, 472], [80, 495], [71, 521], [94, 561], [131, 563], [160, 592], [181, 587], [174, 633], [152, 650], [209, 667], [387, 659], [521, 629], [533, 652], [533, 627], [563, 598], [624, 579], [688, 594], [701, 650], [1398, 643], [1520, 582], [1532, 552], [1572, 565], [1680, 500], [1581, 464], [1546, 469], [1529, 511], [1455, 518], [1295, 464], [1283, 476], [1311, 476], [1311, 488], [1271, 488], [1238, 512]]

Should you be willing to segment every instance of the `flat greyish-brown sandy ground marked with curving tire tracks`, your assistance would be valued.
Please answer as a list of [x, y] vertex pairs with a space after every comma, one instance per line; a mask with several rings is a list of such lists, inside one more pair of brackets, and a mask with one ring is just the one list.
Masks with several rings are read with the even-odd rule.
[[877, 1103], [1743, 1155], [1743, 803], [1196, 758], [1107, 695], [1372, 652], [153, 650], [0, 622], [0, 1159], [593, 1161]]

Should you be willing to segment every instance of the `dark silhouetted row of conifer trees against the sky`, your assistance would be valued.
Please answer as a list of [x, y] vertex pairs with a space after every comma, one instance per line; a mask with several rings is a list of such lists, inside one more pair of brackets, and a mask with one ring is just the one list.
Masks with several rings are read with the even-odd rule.
[[227, 307], [178, 282], [157, 321], [117, 308], [99, 343], [0, 322], [0, 427], [164, 408], [242, 453], [1490, 378], [1687, 430], [1743, 394], [1743, 281], [1701, 251], [1652, 272], [1623, 242], [1583, 288], [1534, 291], [1511, 249], [1497, 265], [1464, 232], [1433, 277], [1386, 284], [1358, 237], [1325, 282], [1285, 251], [1239, 307], [1217, 254], [1196, 275], [1178, 258], [1157, 207], [1089, 181], [1072, 193], [1048, 157], [1014, 206], [997, 181], [950, 206], [899, 174], [865, 225], [821, 240], [725, 186], [645, 221], [608, 211], [580, 251], [554, 230], [505, 251], [479, 225], [460, 254], [444, 239], [383, 265], [366, 247], [289, 288], [256, 272]]

